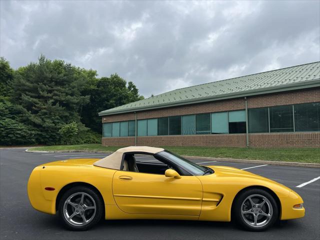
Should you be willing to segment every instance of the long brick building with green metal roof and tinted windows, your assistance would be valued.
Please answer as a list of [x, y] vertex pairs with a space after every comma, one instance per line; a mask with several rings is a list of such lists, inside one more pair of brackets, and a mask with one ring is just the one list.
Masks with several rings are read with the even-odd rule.
[[320, 147], [320, 62], [180, 88], [99, 116], [103, 145]]

